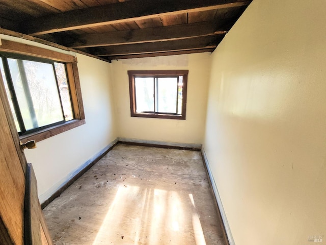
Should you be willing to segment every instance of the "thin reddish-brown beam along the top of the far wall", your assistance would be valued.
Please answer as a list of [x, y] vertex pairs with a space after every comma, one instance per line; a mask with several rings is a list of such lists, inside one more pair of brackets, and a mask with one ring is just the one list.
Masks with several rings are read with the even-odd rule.
[[168, 55], [184, 55], [184, 54], [213, 52], [214, 50], [215, 50], [215, 48], [202, 48], [200, 50], [183, 50], [183, 51], [159, 52], [159, 53], [152, 53], [152, 54], [115, 55], [115, 56], [107, 56], [107, 59], [109, 59], [109, 60], [120, 60], [120, 59], [168, 56]]

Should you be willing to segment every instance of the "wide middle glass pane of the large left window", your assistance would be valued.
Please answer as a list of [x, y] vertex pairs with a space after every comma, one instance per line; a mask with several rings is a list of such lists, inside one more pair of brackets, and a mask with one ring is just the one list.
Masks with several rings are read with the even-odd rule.
[[16, 59], [8, 63], [26, 130], [62, 121], [52, 64]]

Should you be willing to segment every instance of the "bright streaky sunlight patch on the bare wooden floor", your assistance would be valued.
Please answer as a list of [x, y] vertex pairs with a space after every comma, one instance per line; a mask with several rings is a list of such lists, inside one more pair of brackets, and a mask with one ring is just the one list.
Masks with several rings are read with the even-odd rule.
[[[141, 195], [141, 202], [137, 205], [132, 203], [133, 197]], [[192, 194], [189, 194], [193, 206], [195, 202]], [[128, 203], [126, 200], [130, 200]], [[130, 207], [132, 209], [130, 209]], [[136, 213], [137, 217], [129, 217], [130, 212]], [[188, 218], [187, 218], [188, 215]], [[189, 216], [190, 215], [190, 216]], [[192, 217], [192, 220], [187, 220]], [[134, 228], [134, 232], [124, 234], [124, 222]], [[134, 245], [144, 244], [144, 237], [151, 245], [183, 244], [184, 233], [191, 230], [187, 229], [189, 223], [195, 235], [197, 245], [206, 245], [200, 219], [197, 212], [185, 214], [180, 196], [176, 191], [161, 189], [140, 190], [137, 186], [120, 186], [115, 199], [103, 219], [102, 225], [93, 242], [95, 244], [106, 244], [110, 238], [121, 236], [125, 242], [132, 242]], [[120, 227], [120, 228], [119, 228]], [[121, 233], [119, 233], [121, 231]], [[143, 240], [142, 240], [143, 239]]]

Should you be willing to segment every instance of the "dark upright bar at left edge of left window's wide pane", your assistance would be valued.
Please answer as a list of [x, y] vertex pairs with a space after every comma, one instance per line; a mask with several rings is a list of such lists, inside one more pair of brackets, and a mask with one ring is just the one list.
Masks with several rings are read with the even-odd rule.
[[17, 117], [20, 133], [24, 133], [24, 132], [26, 132], [26, 128], [25, 128], [24, 120], [22, 118], [21, 111], [20, 111], [20, 108], [19, 108], [19, 104], [18, 104], [14, 84], [12, 82], [12, 78], [11, 78], [11, 74], [10, 74], [10, 70], [9, 70], [9, 65], [8, 65], [8, 60], [7, 60], [7, 58], [3, 58], [2, 60], [3, 60], [4, 69], [5, 69], [4, 71], [5, 71], [5, 75], [6, 75], [6, 80], [7, 80], [9, 92], [10, 92], [10, 95], [11, 95], [11, 101], [12, 101], [12, 104], [14, 106], [14, 110], [15, 110], [15, 114], [16, 114], [16, 117]]

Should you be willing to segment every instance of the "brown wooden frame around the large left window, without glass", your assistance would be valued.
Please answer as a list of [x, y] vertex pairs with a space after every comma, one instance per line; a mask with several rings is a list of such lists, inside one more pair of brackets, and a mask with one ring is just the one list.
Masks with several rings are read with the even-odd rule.
[[77, 59], [75, 56], [9, 40], [1, 40], [0, 44], [0, 52], [2, 53], [50, 59], [55, 62], [63, 62], [66, 64], [67, 80], [69, 83], [71, 107], [73, 110], [74, 119], [53, 127], [39, 130], [37, 132], [22, 135], [19, 138], [23, 143], [33, 139], [36, 141], [41, 141], [85, 124], [82, 90], [80, 89]]

